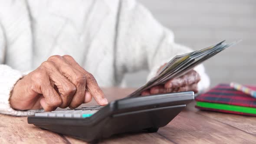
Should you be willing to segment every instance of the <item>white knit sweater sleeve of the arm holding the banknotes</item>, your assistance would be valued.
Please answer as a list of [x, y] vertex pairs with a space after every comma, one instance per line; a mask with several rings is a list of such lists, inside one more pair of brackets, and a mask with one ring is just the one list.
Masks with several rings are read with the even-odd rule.
[[[174, 34], [135, 0], [121, 0], [117, 23], [116, 71], [120, 81], [125, 72], [150, 71], [148, 80], [161, 65], [174, 56], [192, 49], [174, 42]], [[199, 91], [209, 87], [210, 80], [203, 65], [194, 68], [201, 77]]]

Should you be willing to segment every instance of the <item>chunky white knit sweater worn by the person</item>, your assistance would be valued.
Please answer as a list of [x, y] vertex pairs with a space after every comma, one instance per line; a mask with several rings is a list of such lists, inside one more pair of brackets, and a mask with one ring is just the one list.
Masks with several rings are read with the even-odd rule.
[[[0, 113], [39, 111], [13, 110], [8, 99], [24, 72], [52, 55], [73, 56], [104, 87], [141, 69], [150, 70], [150, 79], [160, 65], [190, 51], [135, 0], [0, 0]], [[203, 65], [195, 70], [199, 89], [207, 88]]]

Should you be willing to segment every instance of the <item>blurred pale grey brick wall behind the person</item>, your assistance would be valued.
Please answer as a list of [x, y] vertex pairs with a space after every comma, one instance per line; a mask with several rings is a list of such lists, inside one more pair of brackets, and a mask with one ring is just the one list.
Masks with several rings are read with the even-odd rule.
[[[256, 84], [256, 0], [138, 0], [177, 43], [201, 49], [223, 39], [242, 39], [204, 62], [211, 85], [221, 82]], [[145, 82], [147, 72], [126, 75], [128, 86]]]

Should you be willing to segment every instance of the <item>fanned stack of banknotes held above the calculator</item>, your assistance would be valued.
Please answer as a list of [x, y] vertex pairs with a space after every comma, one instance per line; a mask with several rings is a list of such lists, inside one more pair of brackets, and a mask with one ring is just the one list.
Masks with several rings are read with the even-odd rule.
[[[224, 40], [225, 41], [225, 40]], [[238, 42], [224, 43], [224, 41], [217, 43], [213, 46], [206, 47], [194, 52], [186, 53], [183, 55], [175, 56], [168, 62], [163, 69], [161, 69], [155, 77], [149, 80], [146, 84], [138, 88], [135, 92], [132, 92], [128, 97], [136, 97], [141, 95], [141, 92], [151, 88], [155, 85], [164, 84], [170, 79], [177, 78], [186, 74], [195, 66], [211, 58], [224, 49], [235, 45]]]

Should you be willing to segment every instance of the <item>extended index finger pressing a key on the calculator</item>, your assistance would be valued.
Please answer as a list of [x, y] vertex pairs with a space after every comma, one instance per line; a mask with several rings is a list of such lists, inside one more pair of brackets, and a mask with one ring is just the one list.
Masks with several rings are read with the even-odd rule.
[[92, 94], [93, 98], [99, 105], [107, 105], [108, 100], [105, 98], [104, 93], [102, 92], [101, 88], [98, 86], [98, 83], [94, 76], [87, 72], [85, 69], [83, 69], [71, 56], [63, 56], [64, 59], [66, 59], [70, 65], [74, 66], [76, 69], [81, 71], [85, 74], [86, 78], [86, 89]]

